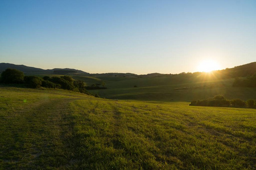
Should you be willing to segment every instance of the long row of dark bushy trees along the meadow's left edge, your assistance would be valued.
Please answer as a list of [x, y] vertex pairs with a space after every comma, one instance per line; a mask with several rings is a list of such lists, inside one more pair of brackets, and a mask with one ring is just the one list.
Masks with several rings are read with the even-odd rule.
[[18, 83], [26, 84], [30, 88], [61, 88], [64, 90], [71, 90], [76, 92], [81, 92], [83, 94], [91, 95], [86, 91], [85, 83], [81, 80], [74, 80], [71, 76], [44, 76], [43, 78], [39, 76], [24, 76], [22, 71], [16, 69], [6, 69], [1, 74], [2, 83]]

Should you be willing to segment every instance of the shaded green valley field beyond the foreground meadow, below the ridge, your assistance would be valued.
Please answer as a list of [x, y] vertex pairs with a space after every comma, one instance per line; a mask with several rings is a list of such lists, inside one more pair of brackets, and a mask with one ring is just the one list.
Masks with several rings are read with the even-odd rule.
[[[215, 95], [227, 99], [255, 99], [256, 88], [232, 87], [234, 79], [185, 78], [184, 76], [158, 76], [154, 78], [87, 77], [74, 76], [86, 82], [106, 82], [105, 90], [90, 90], [107, 99], [129, 99], [141, 101], [187, 101], [203, 100]], [[137, 86], [137, 87], [134, 87]]]

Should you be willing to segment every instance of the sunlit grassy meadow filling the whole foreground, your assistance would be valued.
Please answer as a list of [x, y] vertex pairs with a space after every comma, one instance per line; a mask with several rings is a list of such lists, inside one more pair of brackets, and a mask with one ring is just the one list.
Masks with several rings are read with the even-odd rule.
[[255, 109], [14, 87], [0, 101], [0, 169], [256, 168]]

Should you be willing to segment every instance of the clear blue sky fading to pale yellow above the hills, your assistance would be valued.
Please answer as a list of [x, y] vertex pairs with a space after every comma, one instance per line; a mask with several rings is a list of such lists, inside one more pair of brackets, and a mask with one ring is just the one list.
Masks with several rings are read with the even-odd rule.
[[256, 1], [1, 0], [0, 63], [88, 73], [256, 61]]

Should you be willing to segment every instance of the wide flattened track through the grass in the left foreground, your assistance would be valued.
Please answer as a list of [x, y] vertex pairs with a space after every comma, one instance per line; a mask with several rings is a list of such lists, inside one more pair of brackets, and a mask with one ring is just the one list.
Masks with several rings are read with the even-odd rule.
[[76, 99], [51, 99], [30, 106], [13, 118], [3, 144], [3, 168], [50, 168], [67, 164], [64, 139], [68, 133], [69, 103]]

